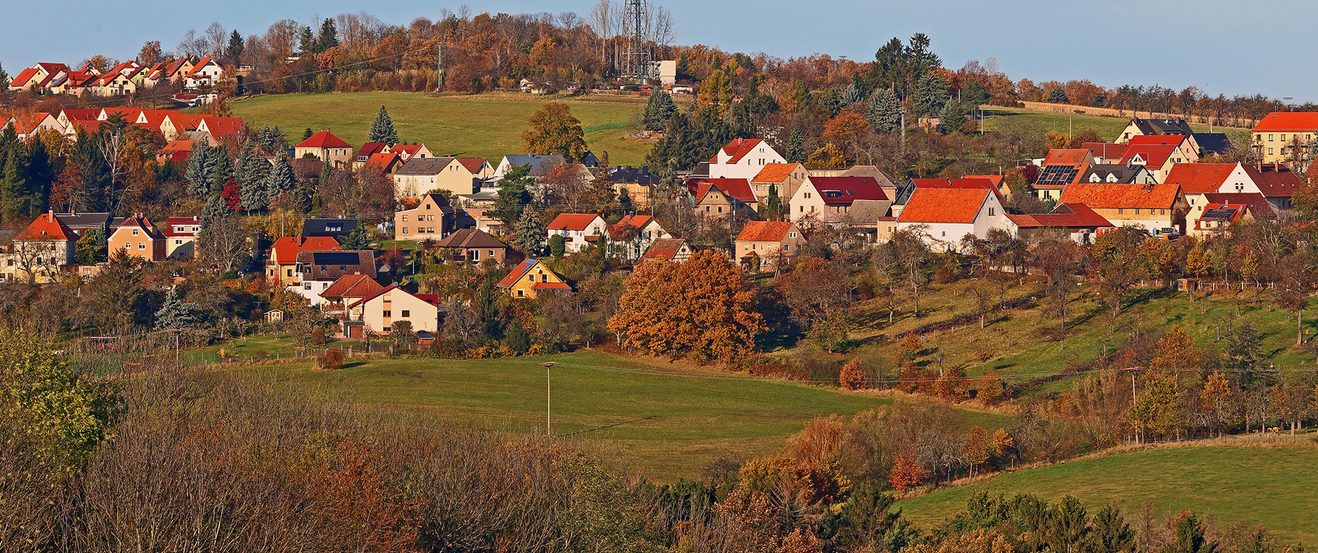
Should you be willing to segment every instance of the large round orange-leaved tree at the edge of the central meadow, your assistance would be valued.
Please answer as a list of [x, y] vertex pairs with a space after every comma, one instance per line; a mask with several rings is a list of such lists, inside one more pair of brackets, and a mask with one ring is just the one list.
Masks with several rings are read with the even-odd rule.
[[714, 250], [685, 263], [652, 261], [623, 284], [609, 329], [621, 345], [697, 362], [737, 362], [755, 346], [764, 319], [753, 311], [755, 284]]

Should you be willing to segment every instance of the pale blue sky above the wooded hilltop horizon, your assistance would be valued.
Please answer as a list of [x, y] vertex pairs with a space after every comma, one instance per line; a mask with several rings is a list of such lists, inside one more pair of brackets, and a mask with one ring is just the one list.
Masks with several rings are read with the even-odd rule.
[[[577, 12], [596, 0], [468, 3], [472, 13]], [[944, 66], [995, 58], [1012, 79], [1090, 79], [1095, 84], [1197, 86], [1217, 95], [1264, 93], [1318, 101], [1311, 28], [1318, 3], [1278, 0], [651, 0], [673, 14], [679, 43], [788, 58], [811, 54], [870, 61], [891, 37], [931, 37]], [[655, 4], [656, 3], [656, 4]], [[74, 65], [94, 54], [128, 59], [150, 40], [174, 47], [212, 21], [244, 34], [272, 22], [366, 9], [390, 24], [438, 18], [460, 1], [225, 0], [179, 3], [12, 1], [0, 17], [0, 63], [13, 75], [36, 62]], [[51, 17], [59, 24], [50, 25]]]

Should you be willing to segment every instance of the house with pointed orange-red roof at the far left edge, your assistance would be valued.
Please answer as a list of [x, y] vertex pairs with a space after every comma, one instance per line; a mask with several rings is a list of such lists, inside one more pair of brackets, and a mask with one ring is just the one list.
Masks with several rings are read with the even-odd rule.
[[13, 237], [8, 250], [0, 255], [4, 259], [0, 275], [7, 280], [54, 280], [61, 267], [72, 265], [76, 242], [78, 234], [54, 212], [41, 213]]

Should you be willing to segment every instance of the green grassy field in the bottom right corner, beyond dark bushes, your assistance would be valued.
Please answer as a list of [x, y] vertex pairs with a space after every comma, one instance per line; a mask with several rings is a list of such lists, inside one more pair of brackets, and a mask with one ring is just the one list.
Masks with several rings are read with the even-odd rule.
[[937, 524], [973, 494], [1074, 495], [1090, 510], [1116, 502], [1131, 517], [1152, 503], [1159, 515], [1191, 510], [1218, 521], [1265, 524], [1288, 541], [1318, 540], [1318, 448], [1153, 448], [988, 478], [898, 503], [913, 521]]

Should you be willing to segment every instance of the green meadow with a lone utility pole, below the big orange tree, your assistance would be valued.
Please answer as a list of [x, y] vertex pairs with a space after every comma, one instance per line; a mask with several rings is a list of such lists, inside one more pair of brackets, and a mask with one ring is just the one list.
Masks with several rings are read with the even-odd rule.
[[[720, 457], [747, 460], [782, 450], [815, 416], [851, 415], [892, 400], [837, 388], [741, 377], [648, 358], [583, 352], [550, 358], [351, 361], [339, 371], [304, 365], [240, 369], [275, 373], [310, 386], [349, 390], [386, 409], [418, 411], [455, 423], [544, 431], [543, 361], [554, 367], [555, 433], [617, 427], [583, 436], [602, 440], [660, 481], [699, 478]], [[995, 429], [1006, 417], [958, 409], [962, 423]]]

